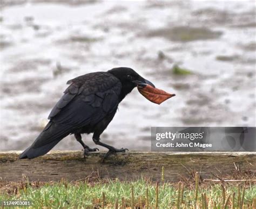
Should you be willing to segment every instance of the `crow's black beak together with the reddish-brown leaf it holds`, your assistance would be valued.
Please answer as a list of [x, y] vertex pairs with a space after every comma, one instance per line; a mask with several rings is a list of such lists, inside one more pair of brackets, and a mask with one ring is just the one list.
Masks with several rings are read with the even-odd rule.
[[156, 88], [153, 83], [144, 79], [144, 81], [136, 81], [139, 93], [142, 94], [147, 100], [157, 103], [164, 102], [165, 100], [175, 96], [175, 94], [169, 94], [164, 90]]

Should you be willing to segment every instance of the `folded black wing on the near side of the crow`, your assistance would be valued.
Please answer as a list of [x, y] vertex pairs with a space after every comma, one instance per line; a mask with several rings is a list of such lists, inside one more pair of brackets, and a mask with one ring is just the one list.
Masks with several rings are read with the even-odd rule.
[[[63, 127], [58, 128], [56, 134], [65, 135], [72, 130], [97, 124], [107, 114], [116, 111], [122, 84], [110, 73], [89, 73], [67, 83], [70, 86], [49, 115], [50, 122]], [[49, 128], [45, 127], [43, 131], [46, 132]], [[54, 141], [54, 129], [51, 132], [53, 137], [37, 138], [33, 147], [42, 147]]]

